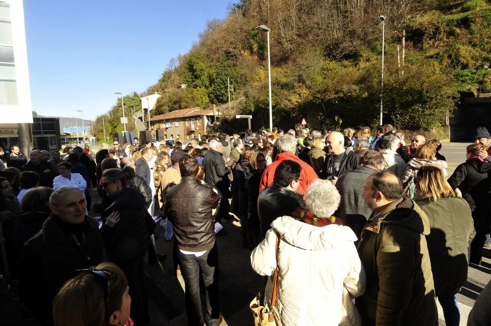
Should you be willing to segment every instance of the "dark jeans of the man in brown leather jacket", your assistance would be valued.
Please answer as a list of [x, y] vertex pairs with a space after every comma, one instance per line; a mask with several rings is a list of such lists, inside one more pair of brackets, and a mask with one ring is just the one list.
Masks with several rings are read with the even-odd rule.
[[186, 314], [188, 325], [203, 326], [204, 318], [199, 293], [199, 277], [203, 277], [206, 301], [206, 324], [216, 326], [220, 319], [218, 303], [218, 250], [217, 245], [196, 257], [177, 249], [181, 274], [186, 288]]

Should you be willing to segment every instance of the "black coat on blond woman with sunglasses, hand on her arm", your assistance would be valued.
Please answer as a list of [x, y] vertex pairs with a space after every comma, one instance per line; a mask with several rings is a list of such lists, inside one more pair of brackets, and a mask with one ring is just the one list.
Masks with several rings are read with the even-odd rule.
[[112, 228], [106, 224], [101, 228], [108, 260], [116, 264], [139, 260], [155, 229], [155, 222], [145, 209], [145, 198], [134, 188], [125, 188], [109, 197], [113, 202], [102, 213], [102, 219], [106, 222], [112, 212], [119, 212], [120, 219]]

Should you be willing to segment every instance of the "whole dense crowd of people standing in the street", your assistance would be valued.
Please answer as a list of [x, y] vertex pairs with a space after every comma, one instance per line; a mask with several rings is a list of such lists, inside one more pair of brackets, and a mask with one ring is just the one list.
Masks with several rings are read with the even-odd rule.
[[[161, 220], [189, 325], [218, 326], [217, 226], [234, 222], [276, 325], [438, 325], [436, 299], [459, 325], [455, 295], [491, 247], [491, 136], [477, 129], [450, 176], [440, 149], [423, 135], [406, 144], [390, 124], [115, 139], [28, 158], [13, 145], [0, 150], [1, 271], [42, 326], [144, 325], [144, 257], [166, 258]], [[490, 325], [488, 303], [468, 325]]]

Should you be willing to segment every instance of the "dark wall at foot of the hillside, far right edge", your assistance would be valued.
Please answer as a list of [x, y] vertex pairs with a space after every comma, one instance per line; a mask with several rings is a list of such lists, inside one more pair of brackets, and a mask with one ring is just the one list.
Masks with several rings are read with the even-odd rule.
[[491, 98], [464, 98], [450, 118], [450, 141], [470, 141], [478, 127], [491, 132]]

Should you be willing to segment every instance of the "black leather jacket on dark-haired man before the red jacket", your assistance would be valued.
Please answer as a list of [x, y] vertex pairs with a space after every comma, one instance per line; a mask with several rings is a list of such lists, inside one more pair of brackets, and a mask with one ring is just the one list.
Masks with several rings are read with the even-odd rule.
[[293, 211], [303, 206], [303, 193], [288, 190], [272, 183], [259, 193], [257, 200], [261, 230], [263, 232], [268, 231], [276, 217], [292, 216]]

